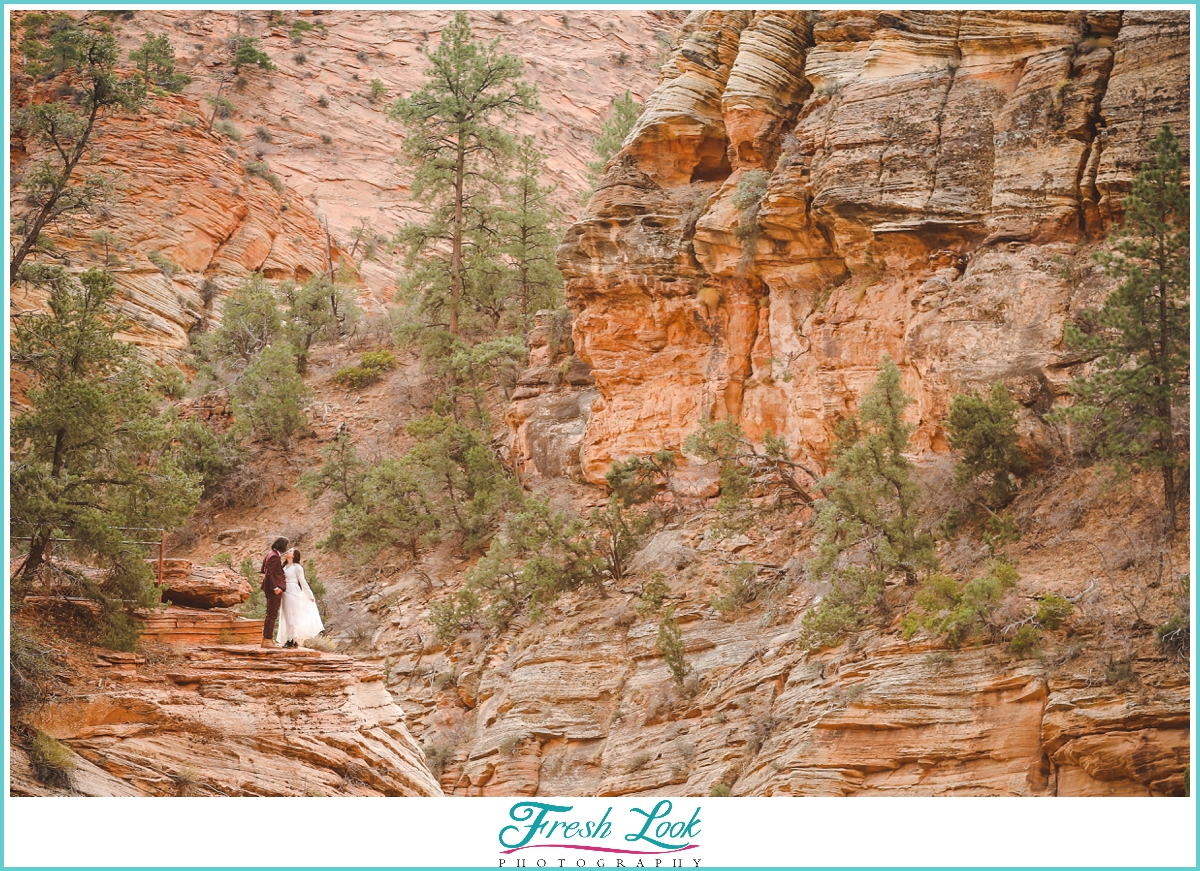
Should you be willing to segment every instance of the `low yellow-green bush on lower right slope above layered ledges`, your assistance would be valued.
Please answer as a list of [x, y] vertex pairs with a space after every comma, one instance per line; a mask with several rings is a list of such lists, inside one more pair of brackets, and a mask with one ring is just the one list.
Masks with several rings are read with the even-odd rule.
[[924, 629], [943, 636], [952, 647], [983, 642], [992, 629], [992, 613], [1019, 579], [1016, 569], [998, 559], [990, 560], [984, 566], [984, 575], [961, 589], [948, 575], [929, 575], [917, 589], [913, 609], [901, 620], [905, 637], [911, 638]]

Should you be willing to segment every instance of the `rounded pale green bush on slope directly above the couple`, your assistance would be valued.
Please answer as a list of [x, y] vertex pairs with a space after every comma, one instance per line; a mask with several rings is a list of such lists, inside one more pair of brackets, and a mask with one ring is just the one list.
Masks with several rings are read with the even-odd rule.
[[287, 342], [264, 348], [232, 391], [234, 414], [257, 437], [284, 446], [307, 428], [304, 409], [312, 398], [312, 390], [296, 372], [295, 356]]

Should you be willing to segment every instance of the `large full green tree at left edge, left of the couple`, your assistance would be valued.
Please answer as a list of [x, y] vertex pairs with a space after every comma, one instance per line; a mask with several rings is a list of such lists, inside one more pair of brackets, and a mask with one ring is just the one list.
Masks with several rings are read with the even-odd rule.
[[152, 603], [157, 589], [116, 528], [178, 525], [196, 507], [199, 482], [173, 449], [173, 419], [155, 404], [150, 373], [114, 336], [126, 323], [109, 314], [112, 277], [37, 274], [49, 312], [12, 326], [12, 364], [32, 379], [30, 410], [11, 431], [11, 531], [31, 536], [24, 571], [38, 567], [50, 539], [73, 537], [109, 570], [102, 602]]

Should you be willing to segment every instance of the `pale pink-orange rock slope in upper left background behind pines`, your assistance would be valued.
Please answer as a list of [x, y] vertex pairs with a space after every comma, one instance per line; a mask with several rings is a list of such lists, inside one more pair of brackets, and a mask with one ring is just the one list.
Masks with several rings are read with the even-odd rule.
[[[330, 262], [353, 260], [364, 305], [378, 310], [395, 292], [400, 262], [382, 248], [364, 260], [366, 242], [355, 251], [352, 233], [365, 218], [373, 234], [390, 235], [412, 217], [407, 173], [396, 163], [402, 130], [384, 108], [421, 85], [420, 49], [437, 46], [451, 14], [331, 10], [289, 12], [272, 23], [265, 10], [175, 10], [120, 18], [122, 52], [146, 34], [166, 34], [178, 70], [193, 82], [180, 96], [156, 97], [139, 115], [102, 125], [91, 172], [115, 173], [119, 193], [110, 214], [50, 234], [60, 256], [70, 268], [97, 265], [106, 252], [90, 236], [113, 233], [121, 247], [109, 254], [132, 322], [128, 337], [164, 360], [181, 358], [190, 337], [220, 318], [222, 292], [252, 271], [302, 281]], [[320, 26], [294, 42], [298, 19]], [[568, 215], [587, 186], [590, 142], [612, 97], [625, 89], [638, 100], [649, 95], [653, 60], [662, 50], [655, 36], [670, 36], [678, 23], [671, 12], [472, 13], [478, 35], [500, 38], [539, 86], [542, 108], [522, 131], [536, 133], [548, 154], [548, 175]], [[228, 76], [226, 43], [239, 32], [258, 36], [278, 70], [247, 71], [242, 84], [222, 86], [236, 107], [235, 142], [208, 131], [204, 98]], [[16, 29], [13, 38], [19, 42]], [[23, 73], [16, 42], [12, 54], [14, 107], [46, 98], [55, 83]], [[372, 79], [388, 89], [386, 100], [372, 101]], [[13, 144], [13, 172], [38, 157], [24, 146], [19, 138]], [[252, 174], [253, 163], [269, 169]], [[151, 252], [168, 265], [152, 263]], [[14, 300], [41, 302], [25, 288]]]

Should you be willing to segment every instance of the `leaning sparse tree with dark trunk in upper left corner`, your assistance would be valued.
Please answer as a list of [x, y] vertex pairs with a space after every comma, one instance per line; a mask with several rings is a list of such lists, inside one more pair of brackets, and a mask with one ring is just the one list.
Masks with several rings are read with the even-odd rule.
[[[13, 115], [13, 130], [37, 144], [47, 156], [22, 167], [16, 179], [20, 208], [13, 221], [13, 254], [8, 278], [17, 281], [20, 266], [46, 244], [46, 230], [72, 214], [89, 214], [112, 196], [112, 181], [103, 173], [84, 173], [97, 125], [113, 112], [136, 109], [145, 98], [140, 79], [122, 79], [116, 73], [120, 52], [110, 34], [78, 28], [68, 16], [49, 37], [60, 70], [74, 68], [65, 100], [29, 106]], [[73, 184], [72, 184], [73, 182]]]

